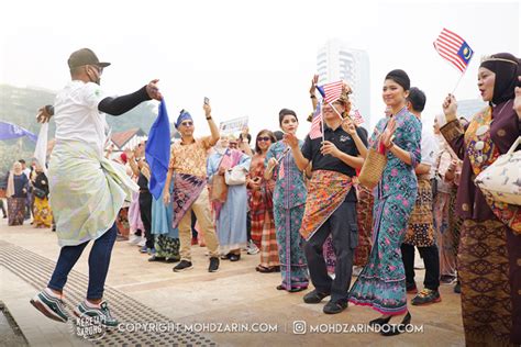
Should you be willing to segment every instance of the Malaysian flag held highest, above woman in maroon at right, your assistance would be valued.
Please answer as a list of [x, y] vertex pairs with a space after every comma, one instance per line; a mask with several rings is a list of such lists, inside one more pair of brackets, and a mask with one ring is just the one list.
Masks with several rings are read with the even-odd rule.
[[434, 41], [434, 48], [442, 58], [452, 63], [459, 71], [465, 71], [474, 52], [459, 35], [445, 27]]

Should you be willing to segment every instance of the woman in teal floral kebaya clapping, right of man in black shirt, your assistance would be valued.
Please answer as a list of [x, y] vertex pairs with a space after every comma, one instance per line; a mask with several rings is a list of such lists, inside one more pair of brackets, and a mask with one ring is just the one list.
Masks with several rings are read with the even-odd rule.
[[[383, 89], [391, 115], [378, 122], [370, 137], [372, 147], [386, 147], [387, 165], [375, 189], [373, 248], [369, 262], [350, 292], [350, 301], [370, 306], [383, 314], [370, 325], [387, 325], [383, 335], [396, 335], [409, 324], [406, 276], [400, 246], [417, 198], [414, 167], [421, 161], [421, 123], [406, 108], [410, 80], [403, 70], [390, 71]], [[403, 317], [404, 316], [404, 317]]]

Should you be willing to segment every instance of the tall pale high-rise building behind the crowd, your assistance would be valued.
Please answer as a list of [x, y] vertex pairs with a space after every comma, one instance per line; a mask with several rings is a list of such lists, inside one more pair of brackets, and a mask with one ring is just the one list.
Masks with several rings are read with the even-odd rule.
[[358, 109], [370, 130], [376, 123], [370, 119], [369, 55], [350, 47], [339, 40], [328, 41], [317, 55], [319, 85], [345, 80], [352, 88], [353, 109]]

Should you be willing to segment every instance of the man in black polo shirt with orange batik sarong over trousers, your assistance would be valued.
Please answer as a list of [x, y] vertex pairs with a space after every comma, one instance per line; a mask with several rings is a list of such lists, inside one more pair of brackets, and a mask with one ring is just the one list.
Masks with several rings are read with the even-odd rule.
[[[356, 175], [355, 168], [363, 166], [364, 159], [356, 149], [353, 137], [341, 126], [343, 120], [340, 114], [345, 116], [351, 107], [348, 91], [347, 87], [337, 101], [323, 105], [323, 139], [311, 139], [308, 135], [300, 149], [295, 135], [285, 135], [299, 169], [303, 170], [312, 163], [312, 179], [300, 232], [307, 239], [306, 258], [315, 289], [303, 300], [306, 303], [319, 303], [331, 295], [323, 309], [329, 314], [340, 313], [347, 307], [353, 253], [358, 238], [356, 193], [351, 189], [351, 178]], [[357, 134], [367, 146], [367, 134], [359, 128]], [[336, 256], [334, 280], [328, 275], [322, 253], [322, 246], [330, 234]]]

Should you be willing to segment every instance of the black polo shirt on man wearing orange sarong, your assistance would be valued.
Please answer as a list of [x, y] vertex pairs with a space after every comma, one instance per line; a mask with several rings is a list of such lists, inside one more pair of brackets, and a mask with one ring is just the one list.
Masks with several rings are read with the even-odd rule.
[[[358, 134], [358, 137], [362, 139], [362, 142], [367, 146], [367, 131], [363, 127], [357, 127], [356, 133]], [[336, 146], [336, 148], [345, 154], [348, 154], [350, 156], [356, 157], [359, 155], [358, 149], [356, 149], [355, 141], [342, 128], [342, 126], [339, 126], [333, 131], [331, 127], [325, 125], [324, 139], [331, 142]], [[321, 146], [322, 137], [311, 139], [308, 135], [301, 149], [304, 158], [313, 163], [313, 171], [330, 170], [341, 172], [350, 177], [356, 176], [356, 170], [341, 159], [331, 155], [322, 155], [320, 153]], [[356, 201], [354, 189], [350, 191], [345, 200]]]

